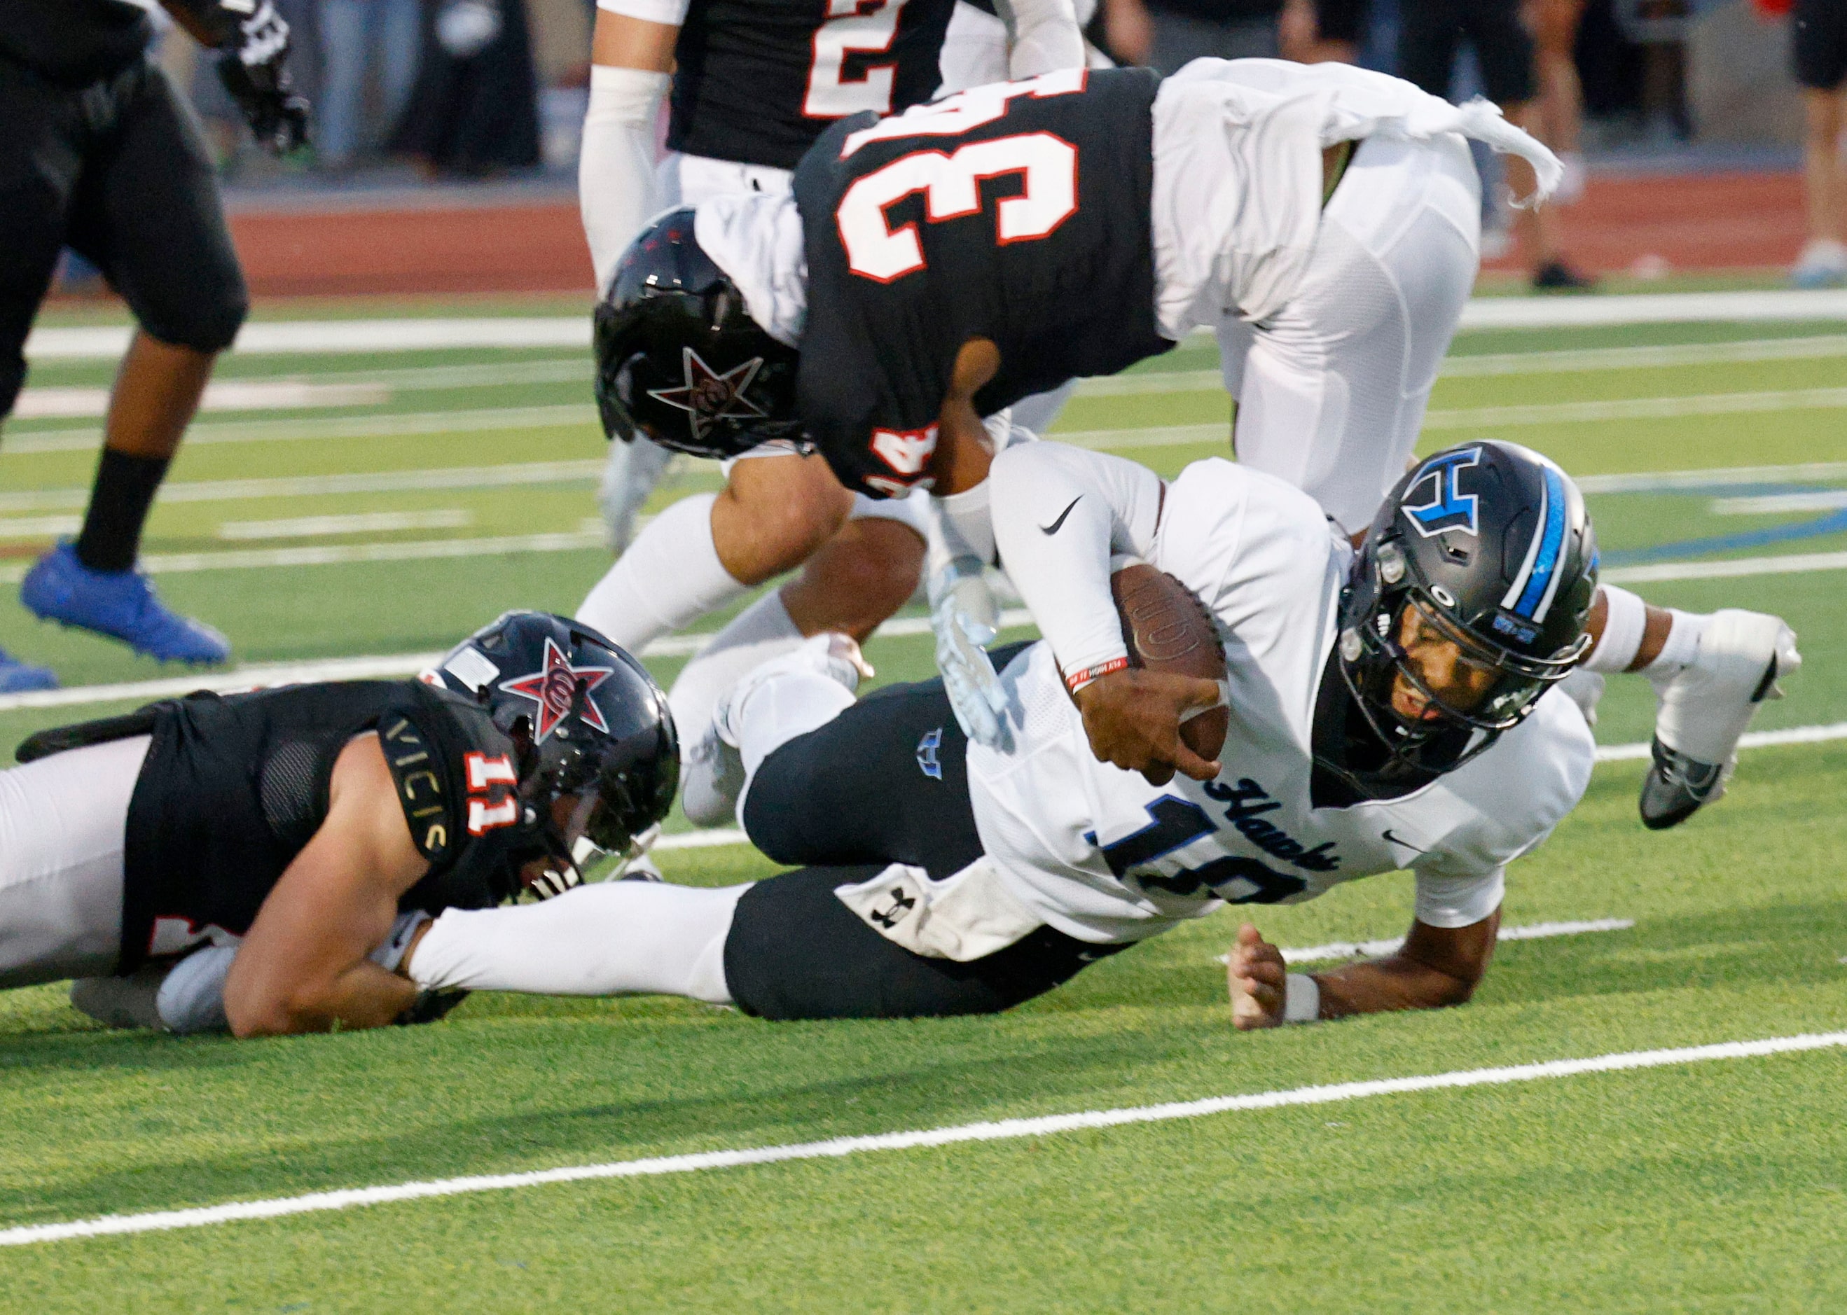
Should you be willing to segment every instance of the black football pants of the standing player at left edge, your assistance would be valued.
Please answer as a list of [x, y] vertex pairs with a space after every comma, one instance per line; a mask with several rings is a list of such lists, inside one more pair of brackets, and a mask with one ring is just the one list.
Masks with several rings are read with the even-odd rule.
[[65, 87], [0, 55], [0, 417], [57, 257], [72, 247], [153, 338], [223, 351], [249, 294], [192, 109], [140, 61]]

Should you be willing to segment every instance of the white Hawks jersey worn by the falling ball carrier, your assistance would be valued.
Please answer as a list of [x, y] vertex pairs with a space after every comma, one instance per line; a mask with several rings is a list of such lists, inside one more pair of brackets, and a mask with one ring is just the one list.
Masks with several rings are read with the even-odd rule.
[[1505, 864], [1583, 794], [1590, 730], [1550, 693], [1479, 757], [1413, 794], [1313, 807], [1310, 728], [1350, 560], [1298, 489], [1223, 460], [1186, 467], [1167, 486], [1153, 565], [1219, 624], [1223, 770], [1149, 785], [1099, 763], [1049, 646], [1034, 645], [1001, 676], [1014, 750], [968, 748], [975, 822], [1014, 894], [1090, 942], [1141, 940], [1221, 903], [1298, 903], [1400, 868], [1417, 874], [1422, 922], [1489, 916]]

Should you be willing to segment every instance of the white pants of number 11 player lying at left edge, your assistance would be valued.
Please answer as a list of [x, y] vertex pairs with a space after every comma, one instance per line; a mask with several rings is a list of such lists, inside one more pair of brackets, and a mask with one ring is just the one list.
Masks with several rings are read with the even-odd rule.
[[122, 957], [122, 848], [148, 735], [0, 772], [0, 988]]

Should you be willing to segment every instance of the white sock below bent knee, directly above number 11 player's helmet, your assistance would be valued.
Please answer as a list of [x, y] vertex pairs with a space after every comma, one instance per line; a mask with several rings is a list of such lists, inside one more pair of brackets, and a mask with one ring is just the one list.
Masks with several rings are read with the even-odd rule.
[[693, 624], [741, 598], [711, 539], [717, 493], [680, 499], [628, 545], [578, 606], [576, 619], [639, 654], [652, 639]]

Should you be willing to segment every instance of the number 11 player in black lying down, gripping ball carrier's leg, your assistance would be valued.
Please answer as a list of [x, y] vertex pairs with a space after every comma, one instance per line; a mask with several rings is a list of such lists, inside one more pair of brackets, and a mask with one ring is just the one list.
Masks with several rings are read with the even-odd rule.
[[506, 613], [423, 680], [192, 694], [28, 739], [0, 772], [0, 986], [238, 1036], [438, 1018], [393, 971], [443, 909], [576, 885], [667, 814], [646, 670]]

